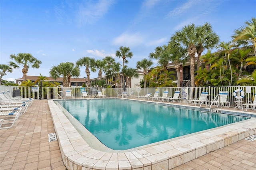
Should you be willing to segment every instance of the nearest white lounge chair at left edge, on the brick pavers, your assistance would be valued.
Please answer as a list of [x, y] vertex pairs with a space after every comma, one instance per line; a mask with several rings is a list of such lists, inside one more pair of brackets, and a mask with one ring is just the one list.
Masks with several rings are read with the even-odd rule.
[[[0, 129], [11, 128], [14, 125], [14, 123], [18, 120], [18, 118], [20, 117], [20, 111], [0, 112], [0, 116], [1, 117], [5, 116], [4, 120], [2, 120], [2, 118], [0, 120], [0, 121], [2, 121], [2, 123], [0, 123], [1, 124]], [[13, 119], [10, 119], [12, 117], [13, 117]], [[8, 124], [10, 124], [10, 126], [5, 126]]]

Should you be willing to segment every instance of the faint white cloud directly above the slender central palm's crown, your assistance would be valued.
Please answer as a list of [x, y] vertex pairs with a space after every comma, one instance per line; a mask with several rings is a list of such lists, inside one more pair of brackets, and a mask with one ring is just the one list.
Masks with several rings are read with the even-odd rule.
[[140, 33], [128, 34], [123, 33], [117, 38], [114, 38], [113, 44], [114, 45], [121, 45], [121, 46], [129, 46], [134, 47], [144, 42], [144, 36]]

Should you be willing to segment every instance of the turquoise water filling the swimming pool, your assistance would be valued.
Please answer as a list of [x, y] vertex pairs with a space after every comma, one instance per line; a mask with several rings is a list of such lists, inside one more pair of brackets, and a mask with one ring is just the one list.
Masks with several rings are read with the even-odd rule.
[[135, 148], [250, 119], [121, 99], [58, 103], [113, 150]]

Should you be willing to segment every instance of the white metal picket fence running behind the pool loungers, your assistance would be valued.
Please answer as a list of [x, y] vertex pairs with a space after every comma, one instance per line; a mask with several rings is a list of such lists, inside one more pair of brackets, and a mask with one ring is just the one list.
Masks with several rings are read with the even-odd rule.
[[[24, 98], [33, 97], [34, 99], [40, 99], [40, 87], [12, 87], [12, 86], [0, 86], [0, 91], [9, 90], [13, 93], [14, 90], [20, 89], [20, 96]], [[156, 88], [128, 88], [126, 89], [128, 96], [135, 98], [141, 95], [146, 95], [147, 93], [152, 93], [154, 95], [155, 91], [159, 91], [159, 96], [162, 97], [164, 91], [168, 91], [168, 96], [172, 97], [175, 91], [180, 91], [181, 102], [189, 103], [189, 100], [200, 97], [202, 91], [208, 91], [209, 100], [212, 101], [219, 94], [220, 91], [228, 91], [228, 101], [230, 102], [230, 107], [235, 107], [236, 99], [233, 96], [233, 92], [236, 89], [242, 89], [245, 96], [240, 99], [242, 103], [247, 103], [248, 101], [253, 101], [256, 93], [256, 86], [231, 86], [231, 87], [156, 87]], [[66, 90], [71, 91], [72, 97], [66, 97]], [[42, 87], [42, 97], [41, 99], [62, 99], [62, 98], [82, 98], [82, 91], [87, 91], [88, 95], [91, 97], [96, 97], [97, 91], [101, 91], [106, 97], [115, 98], [117, 93], [122, 93], [121, 88], [82, 88], [82, 87]]]

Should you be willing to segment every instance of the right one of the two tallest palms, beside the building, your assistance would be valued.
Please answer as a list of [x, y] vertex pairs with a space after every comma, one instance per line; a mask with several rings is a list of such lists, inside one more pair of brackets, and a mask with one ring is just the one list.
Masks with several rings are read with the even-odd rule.
[[202, 59], [200, 59], [200, 56], [204, 49], [212, 49], [215, 47], [220, 41], [220, 38], [213, 31], [211, 24], [208, 22], [202, 26], [196, 27], [196, 36], [198, 38], [198, 43], [196, 44], [196, 52], [198, 55], [197, 68], [199, 68], [202, 65]]

